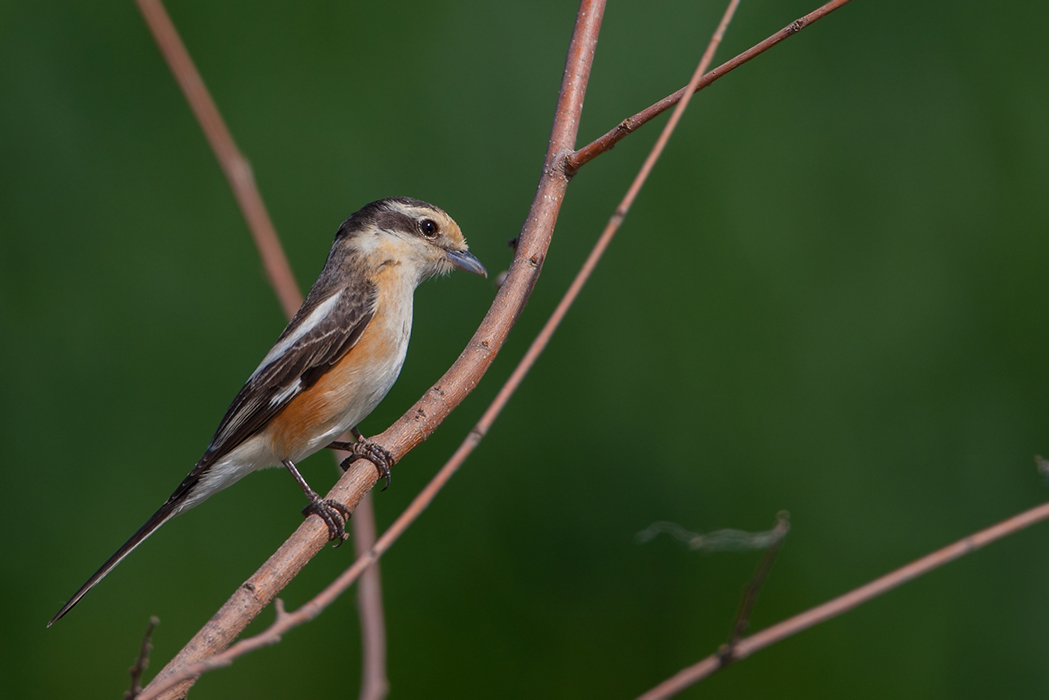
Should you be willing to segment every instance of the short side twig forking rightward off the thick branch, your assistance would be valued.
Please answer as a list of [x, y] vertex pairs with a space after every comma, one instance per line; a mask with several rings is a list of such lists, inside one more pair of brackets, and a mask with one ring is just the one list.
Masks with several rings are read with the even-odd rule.
[[604, 134], [600, 139], [587, 144], [586, 146], [583, 146], [578, 151], [570, 155], [568, 165], [565, 166], [565, 171], [570, 175], [575, 174], [576, 171], [579, 170], [579, 168], [583, 167], [584, 165], [596, 158], [601, 153], [604, 153], [605, 151], [611, 151], [613, 147], [617, 143], [619, 143], [620, 140], [626, 136], [626, 134], [636, 131], [638, 128], [640, 128], [643, 124], [645, 124], [649, 120], [662, 114], [664, 111], [672, 107], [675, 104], [678, 103], [679, 100], [681, 100], [682, 96], [685, 94], [686, 91], [689, 91], [689, 94], [692, 94], [699, 90], [702, 90], [707, 85], [710, 85], [722, 76], [725, 76], [726, 73], [735, 70], [744, 63], [747, 63], [751, 59], [761, 56], [762, 54], [769, 50], [779, 42], [784, 41], [785, 39], [793, 37], [795, 34], [797, 34], [805, 27], [830, 15], [831, 13], [833, 13], [835, 9], [845, 4], [847, 2], [849, 2], [849, 0], [832, 0], [831, 2], [828, 2], [819, 9], [813, 10], [808, 15], [806, 15], [805, 17], [791, 22], [779, 31], [775, 33], [762, 43], [748, 48], [747, 50], [745, 50], [743, 54], [740, 54], [731, 61], [726, 61], [725, 63], [721, 64], [720, 66], [708, 72], [706, 76], [704, 76], [703, 80], [701, 80], [695, 85], [694, 88], [683, 87], [673, 94], [669, 94], [660, 100], [659, 102], [657, 102], [656, 104], [651, 105], [650, 107], [641, 110], [634, 116], [628, 116], [627, 119], [623, 120], [616, 126], [615, 129]]

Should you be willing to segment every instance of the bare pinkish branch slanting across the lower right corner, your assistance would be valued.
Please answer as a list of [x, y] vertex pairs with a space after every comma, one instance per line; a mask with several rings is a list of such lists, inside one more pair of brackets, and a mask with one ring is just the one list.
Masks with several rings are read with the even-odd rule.
[[[991, 526], [986, 530], [981, 530], [976, 534], [959, 539], [952, 545], [937, 550], [932, 554], [927, 554], [905, 567], [897, 569], [890, 574], [885, 574], [881, 578], [877, 578], [870, 584], [866, 584], [865, 586], [860, 586], [858, 589], [845, 593], [842, 596], [834, 598], [833, 600], [825, 602], [821, 606], [817, 606], [816, 608], [808, 610], [799, 615], [795, 615], [790, 619], [784, 620], [778, 624], [774, 624], [767, 630], [763, 630], [757, 634], [742, 639], [733, 649], [732, 659], [734, 661], [745, 659], [754, 652], [761, 651], [766, 646], [770, 646], [771, 644], [780, 641], [782, 639], [786, 639], [787, 637], [795, 635], [798, 632], [808, 630], [809, 628], [815, 627], [820, 622], [826, 622], [831, 618], [849, 612], [853, 608], [876, 598], [898, 586], [902, 586], [918, 576], [927, 574], [934, 569], [938, 569], [945, 564], [954, 561], [955, 559], [965, 556], [966, 554], [970, 554], [978, 549], [991, 544], [992, 542], [997, 542], [1003, 537], [1020, 532], [1024, 528], [1030, 527], [1045, 519], [1049, 519], [1049, 503], [1031, 508], [1030, 510], [1024, 511], [1019, 515], [1013, 515], [998, 525]], [[695, 665], [684, 669], [673, 677], [663, 681], [652, 690], [642, 695], [639, 700], [661, 700], [662, 698], [669, 698], [670, 696], [681, 693], [689, 685], [714, 674], [722, 666], [722, 658], [718, 654], [708, 656]]]

